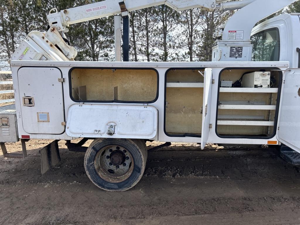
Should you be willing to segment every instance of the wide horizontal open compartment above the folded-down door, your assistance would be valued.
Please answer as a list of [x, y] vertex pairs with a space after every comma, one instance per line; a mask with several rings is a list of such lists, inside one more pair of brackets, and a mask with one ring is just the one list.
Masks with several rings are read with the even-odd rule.
[[158, 72], [154, 69], [73, 68], [73, 101], [154, 102], [158, 97]]

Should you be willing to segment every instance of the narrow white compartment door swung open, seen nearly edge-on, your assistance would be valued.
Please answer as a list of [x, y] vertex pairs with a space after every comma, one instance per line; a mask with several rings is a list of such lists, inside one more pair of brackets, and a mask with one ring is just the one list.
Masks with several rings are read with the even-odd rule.
[[202, 134], [201, 149], [205, 148], [210, 129], [211, 112], [211, 88], [212, 88], [212, 69], [206, 68], [204, 72], [204, 90], [203, 90], [203, 114], [202, 114]]

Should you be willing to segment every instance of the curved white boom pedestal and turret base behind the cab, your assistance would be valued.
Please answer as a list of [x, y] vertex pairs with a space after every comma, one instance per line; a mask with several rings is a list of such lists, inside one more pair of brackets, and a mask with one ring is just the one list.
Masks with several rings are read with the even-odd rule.
[[[221, 0], [222, 1], [222, 0]], [[239, 9], [214, 33], [213, 61], [251, 61], [251, 31], [265, 17], [292, 4], [295, 0], [244, 0], [220, 2], [221, 10]]]

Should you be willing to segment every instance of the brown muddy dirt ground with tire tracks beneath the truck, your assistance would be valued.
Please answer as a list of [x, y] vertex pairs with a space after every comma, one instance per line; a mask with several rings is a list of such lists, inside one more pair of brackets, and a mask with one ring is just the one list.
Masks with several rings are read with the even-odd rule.
[[134, 188], [112, 193], [90, 182], [84, 153], [64, 141], [61, 162], [41, 175], [38, 149], [47, 143], [30, 140], [25, 159], [0, 155], [0, 224], [300, 224], [300, 167], [275, 149], [175, 143], [149, 153]]

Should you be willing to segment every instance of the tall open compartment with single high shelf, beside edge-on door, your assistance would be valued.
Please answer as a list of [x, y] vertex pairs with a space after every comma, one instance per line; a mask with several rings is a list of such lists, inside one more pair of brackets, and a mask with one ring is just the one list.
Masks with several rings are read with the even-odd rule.
[[203, 68], [166, 73], [165, 132], [174, 137], [201, 137]]

